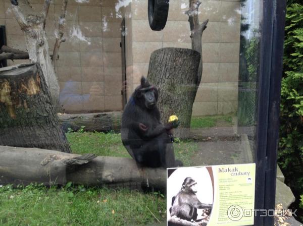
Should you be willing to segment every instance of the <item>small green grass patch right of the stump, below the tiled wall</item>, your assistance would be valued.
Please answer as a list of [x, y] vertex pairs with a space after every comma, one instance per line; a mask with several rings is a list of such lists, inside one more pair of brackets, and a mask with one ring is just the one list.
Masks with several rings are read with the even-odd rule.
[[204, 117], [192, 117], [190, 122], [190, 128], [210, 128], [215, 127], [218, 122], [225, 122], [227, 126], [232, 126], [232, 116], [204, 116]]

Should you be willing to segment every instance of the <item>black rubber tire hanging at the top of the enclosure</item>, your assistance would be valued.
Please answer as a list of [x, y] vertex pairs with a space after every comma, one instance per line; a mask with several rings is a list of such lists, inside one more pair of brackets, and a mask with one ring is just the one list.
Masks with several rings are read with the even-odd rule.
[[148, 0], [148, 22], [151, 30], [161, 31], [166, 24], [169, 0]]

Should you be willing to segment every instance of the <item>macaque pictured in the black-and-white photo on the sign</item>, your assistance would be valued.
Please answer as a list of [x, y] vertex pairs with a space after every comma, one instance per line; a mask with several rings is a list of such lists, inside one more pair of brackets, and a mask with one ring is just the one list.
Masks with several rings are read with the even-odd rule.
[[185, 178], [181, 190], [172, 198], [171, 216], [175, 215], [185, 220], [196, 220], [197, 209], [211, 208], [212, 204], [201, 203], [197, 196], [194, 186], [197, 183], [192, 178]]

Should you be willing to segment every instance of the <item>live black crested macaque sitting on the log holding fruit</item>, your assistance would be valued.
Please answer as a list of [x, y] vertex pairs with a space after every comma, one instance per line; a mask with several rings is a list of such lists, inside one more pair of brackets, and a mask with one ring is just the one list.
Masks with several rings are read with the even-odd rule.
[[121, 137], [129, 154], [139, 165], [172, 167], [175, 160], [170, 130], [178, 123], [163, 125], [157, 107], [158, 90], [142, 77], [126, 104], [122, 115]]

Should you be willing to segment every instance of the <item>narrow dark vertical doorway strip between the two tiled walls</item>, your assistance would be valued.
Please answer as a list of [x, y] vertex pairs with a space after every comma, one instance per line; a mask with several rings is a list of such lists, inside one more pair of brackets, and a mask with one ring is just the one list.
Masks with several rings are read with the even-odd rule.
[[124, 109], [124, 106], [127, 101], [126, 97], [126, 62], [125, 62], [125, 19], [123, 19], [121, 23], [121, 59], [122, 59], [122, 107]]

